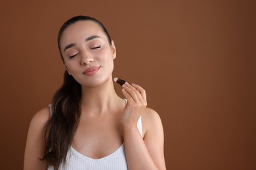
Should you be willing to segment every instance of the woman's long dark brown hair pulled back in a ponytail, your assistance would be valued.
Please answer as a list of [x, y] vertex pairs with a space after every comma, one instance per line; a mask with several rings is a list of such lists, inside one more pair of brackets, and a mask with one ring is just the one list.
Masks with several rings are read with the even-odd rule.
[[[58, 49], [63, 62], [64, 59], [60, 50], [60, 39], [63, 31], [75, 22], [87, 20], [98, 24], [111, 44], [110, 35], [102, 23], [89, 16], [75, 16], [67, 20], [58, 32]], [[64, 73], [62, 86], [53, 96], [52, 108], [53, 114], [45, 126], [45, 148], [41, 160], [46, 161], [47, 165], [53, 166], [54, 169], [58, 169], [60, 163], [66, 162], [66, 155], [81, 115], [81, 84], [67, 71]]]

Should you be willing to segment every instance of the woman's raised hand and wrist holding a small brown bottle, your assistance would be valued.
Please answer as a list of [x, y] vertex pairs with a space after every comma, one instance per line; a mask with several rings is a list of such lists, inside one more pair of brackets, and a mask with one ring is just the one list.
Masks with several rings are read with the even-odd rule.
[[137, 127], [137, 122], [146, 108], [146, 91], [137, 84], [123, 84], [123, 95], [127, 99], [125, 111], [123, 112], [123, 126]]

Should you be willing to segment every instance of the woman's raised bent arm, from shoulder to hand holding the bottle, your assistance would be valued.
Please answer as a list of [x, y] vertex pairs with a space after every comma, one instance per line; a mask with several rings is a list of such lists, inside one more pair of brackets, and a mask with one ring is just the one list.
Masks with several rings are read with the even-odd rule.
[[[163, 127], [160, 116], [146, 108], [146, 92], [136, 84], [123, 85], [127, 106], [123, 114], [125, 153], [130, 170], [166, 169], [163, 154]], [[144, 138], [137, 128], [142, 115]]]

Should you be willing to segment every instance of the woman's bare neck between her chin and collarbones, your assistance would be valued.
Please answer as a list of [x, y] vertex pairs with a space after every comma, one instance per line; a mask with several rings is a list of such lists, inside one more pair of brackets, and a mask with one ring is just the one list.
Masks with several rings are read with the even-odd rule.
[[104, 114], [117, 107], [120, 97], [114, 90], [112, 77], [96, 87], [82, 86], [82, 113]]

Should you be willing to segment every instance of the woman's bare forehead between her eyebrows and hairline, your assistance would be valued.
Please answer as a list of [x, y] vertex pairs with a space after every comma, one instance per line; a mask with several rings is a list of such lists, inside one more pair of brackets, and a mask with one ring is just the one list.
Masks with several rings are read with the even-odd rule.
[[62, 33], [60, 44], [63, 46], [67, 43], [74, 43], [75, 41], [84, 40], [91, 35], [99, 35], [106, 39], [106, 35], [102, 28], [93, 21], [78, 21], [69, 25]]

